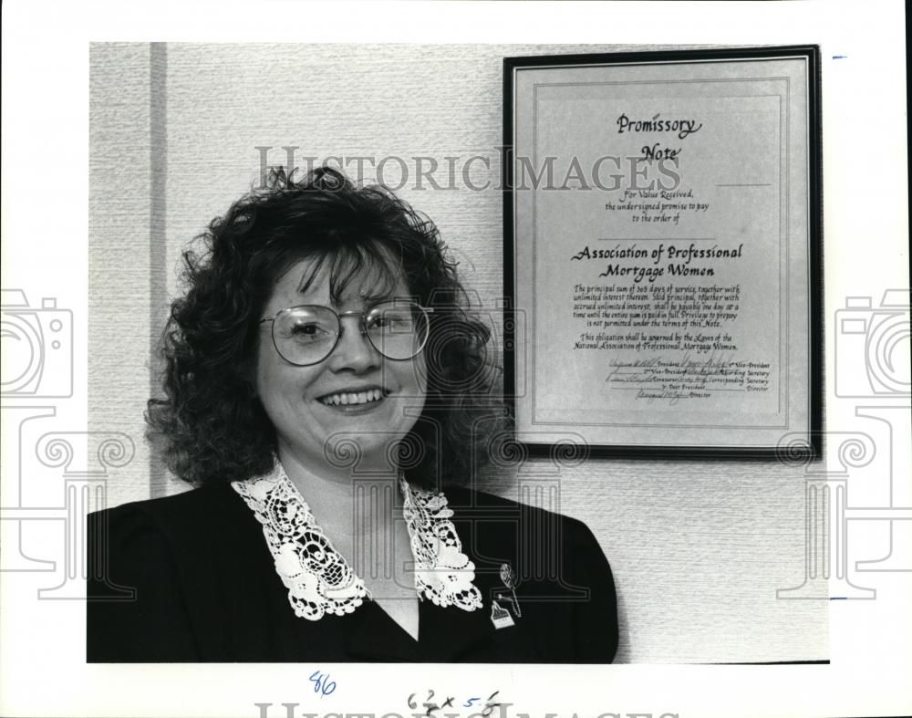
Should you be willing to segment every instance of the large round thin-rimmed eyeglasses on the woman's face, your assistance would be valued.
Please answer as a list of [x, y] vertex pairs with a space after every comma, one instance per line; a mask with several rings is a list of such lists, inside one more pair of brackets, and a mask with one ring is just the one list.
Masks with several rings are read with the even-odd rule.
[[283, 309], [260, 323], [273, 323], [273, 345], [282, 359], [298, 367], [318, 364], [332, 354], [342, 338], [342, 317], [358, 317], [362, 337], [387, 359], [404, 361], [418, 355], [428, 342], [433, 309], [396, 299], [364, 312], [337, 314], [329, 307], [306, 304]]

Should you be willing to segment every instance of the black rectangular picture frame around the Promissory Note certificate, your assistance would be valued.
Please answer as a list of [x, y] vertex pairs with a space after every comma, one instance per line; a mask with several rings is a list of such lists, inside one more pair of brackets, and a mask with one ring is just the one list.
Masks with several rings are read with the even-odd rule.
[[[523, 253], [522, 240], [517, 240], [516, 212], [517, 187], [514, 163], [517, 146], [514, 125], [517, 121], [516, 73], [552, 68], [631, 68], [649, 65], [686, 66], [687, 64], [712, 63], [714, 68], [725, 68], [730, 63], [757, 60], [799, 58], [806, 68], [804, 114], [807, 128], [807, 215], [806, 215], [806, 415], [799, 427], [786, 427], [774, 442], [762, 445], [692, 445], [658, 441], [648, 444], [628, 441], [611, 442], [599, 439], [590, 441], [586, 432], [574, 426], [566, 437], [547, 435], [539, 439], [534, 432], [523, 432], [523, 404], [534, 392], [534, 377], [525, 375], [518, 359], [525, 349], [520, 329], [523, 307], [517, 296], [517, 255]], [[532, 455], [554, 455], [563, 444], [578, 444], [575, 453], [594, 457], [621, 457], [637, 459], [737, 459], [785, 462], [807, 462], [823, 454], [823, 182], [822, 182], [822, 120], [820, 48], [815, 45], [785, 47], [726, 47], [687, 50], [662, 50], [655, 52], [622, 52], [581, 55], [548, 55], [532, 57], [504, 57], [503, 59], [503, 286], [504, 286], [504, 396], [516, 421], [516, 440]], [[535, 293], [533, 286], [531, 292]], [[527, 317], [526, 317], [527, 318]], [[786, 340], [791, 341], [788, 337]], [[522, 375], [521, 375], [522, 374]], [[792, 381], [790, 378], [789, 381]], [[607, 411], [607, 410], [606, 410]], [[552, 434], [554, 432], [551, 432]]]

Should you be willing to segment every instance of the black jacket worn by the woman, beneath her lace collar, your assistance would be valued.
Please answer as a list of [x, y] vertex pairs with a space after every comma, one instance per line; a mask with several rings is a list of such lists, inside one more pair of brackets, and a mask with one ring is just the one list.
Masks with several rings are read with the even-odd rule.
[[[89, 662], [465, 661], [609, 663], [615, 587], [583, 523], [503, 498], [448, 488], [482, 609], [419, 603], [419, 640], [365, 598], [354, 613], [295, 616], [263, 528], [229, 484], [89, 515]], [[492, 599], [522, 616], [496, 629]], [[135, 594], [130, 598], [130, 589]]]

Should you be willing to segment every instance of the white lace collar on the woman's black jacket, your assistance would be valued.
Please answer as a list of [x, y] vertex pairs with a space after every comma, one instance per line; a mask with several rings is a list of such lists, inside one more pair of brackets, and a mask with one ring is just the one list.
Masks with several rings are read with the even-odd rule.
[[[270, 473], [231, 485], [263, 525], [275, 571], [288, 588], [295, 616], [308, 620], [321, 619], [326, 613], [344, 616], [369, 598], [364, 581], [329, 543], [282, 463], [276, 461]], [[430, 598], [441, 607], [481, 609], [481, 591], [472, 583], [475, 566], [462, 553], [446, 497], [416, 489], [401, 476], [399, 488], [415, 559], [418, 597]]]

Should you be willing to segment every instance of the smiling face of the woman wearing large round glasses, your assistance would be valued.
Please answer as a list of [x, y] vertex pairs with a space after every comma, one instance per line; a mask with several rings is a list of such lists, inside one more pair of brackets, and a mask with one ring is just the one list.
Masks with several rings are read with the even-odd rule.
[[[392, 323], [392, 315], [424, 317], [426, 310], [409, 300], [401, 278], [392, 287], [397, 298], [370, 306], [365, 297], [378, 290], [376, 277], [354, 277], [335, 298], [330, 277], [325, 266], [303, 260], [276, 283], [266, 304], [273, 316], [265, 319], [273, 341], [259, 341], [256, 396], [275, 427], [286, 466], [326, 463], [326, 447], [348, 434], [358, 440], [359, 470], [389, 472], [389, 450], [414, 425], [427, 384], [420, 353], [427, 334], [422, 330], [416, 338], [415, 327]], [[413, 324], [423, 327], [427, 320]], [[350, 484], [348, 467], [331, 473]]]

